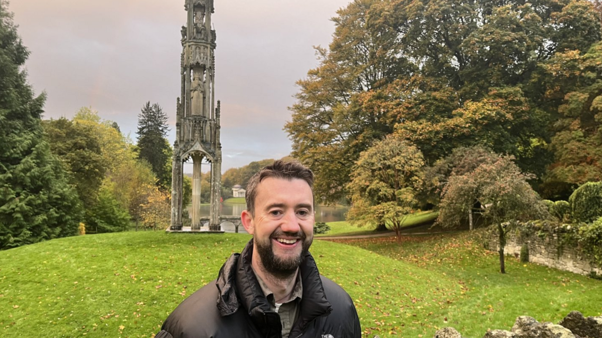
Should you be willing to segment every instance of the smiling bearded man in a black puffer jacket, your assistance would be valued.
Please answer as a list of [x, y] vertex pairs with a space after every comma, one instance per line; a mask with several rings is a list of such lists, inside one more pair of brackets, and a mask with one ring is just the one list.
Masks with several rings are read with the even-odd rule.
[[188, 297], [155, 338], [359, 338], [358, 313], [340, 286], [319, 274], [314, 174], [275, 161], [247, 185], [244, 229], [253, 238], [219, 276]]

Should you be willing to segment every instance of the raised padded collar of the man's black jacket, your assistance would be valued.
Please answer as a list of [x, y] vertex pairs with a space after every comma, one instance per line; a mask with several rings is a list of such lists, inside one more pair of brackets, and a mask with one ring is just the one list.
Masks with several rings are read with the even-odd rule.
[[[220, 269], [216, 281], [219, 290], [217, 308], [222, 316], [232, 315], [237, 310], [246, 310], [260, 329], [265, 326], [279, 326], [279, 316], [270, 311], [270, 304], [251, 268], [252, 255], [253, 239], [247, 243], [242, 253], [232, 254]], [[310, 253], [306, 253], [305, 260], [299, 268], [303, 283], [303, 297], [299, 308], [299, 319], [295, 323], [293, 331], [300, 331], [315, 318], [326, 316], [332, 312], [332, 306], [324, 293], [320, 272]], [[240, 309], [241, 307], [243, 309]], [[291, 331], [291, 336], [293, 331]]]

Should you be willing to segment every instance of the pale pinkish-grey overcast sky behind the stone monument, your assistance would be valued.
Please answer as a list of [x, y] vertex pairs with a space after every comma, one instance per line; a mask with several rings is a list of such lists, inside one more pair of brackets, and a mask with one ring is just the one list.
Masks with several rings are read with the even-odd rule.
[[[291, 152], [282, 128], [294, 83], [317, 66], [312, 46], [328, 45], [329, 19], [348, 3], [214, 0], [223, 171]], [[92, 106], [135, 141], [141, 106], [157, 102], [173, 144], [184, 0], [10, 0], [8, 8], [31, 51], [29, 82], [48, 94], [45, 118]]]

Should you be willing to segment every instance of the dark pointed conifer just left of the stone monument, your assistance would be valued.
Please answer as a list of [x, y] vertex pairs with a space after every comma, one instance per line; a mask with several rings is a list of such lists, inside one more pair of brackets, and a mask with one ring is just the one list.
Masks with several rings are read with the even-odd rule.
[[171, 161], [171, 148], [167, 141], [167, 114], [157, 103], [146, 102], [138, 114], [138, 158], [151, 164], [158, 185], [169, 187], [171, 171], [166, 167]]

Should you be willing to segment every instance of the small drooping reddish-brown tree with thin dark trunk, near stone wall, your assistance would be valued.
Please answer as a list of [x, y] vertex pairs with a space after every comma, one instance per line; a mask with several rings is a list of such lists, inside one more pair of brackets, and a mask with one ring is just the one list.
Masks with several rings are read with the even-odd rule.
[[521, 173], [512, 160], [512, 156], [498, 156], [494, 163], [483, 163], [468, 173], [450, 176], [441, 194], [437, 218], [444, 227], [458, 226], [466, 220], [474, 201], [478, 201], [486, 224], [497, 227], [503, 274], [506, 234], [511, 226], [519, 220], [547, 215], [541, 198], [527, 183], [532, 175]]

